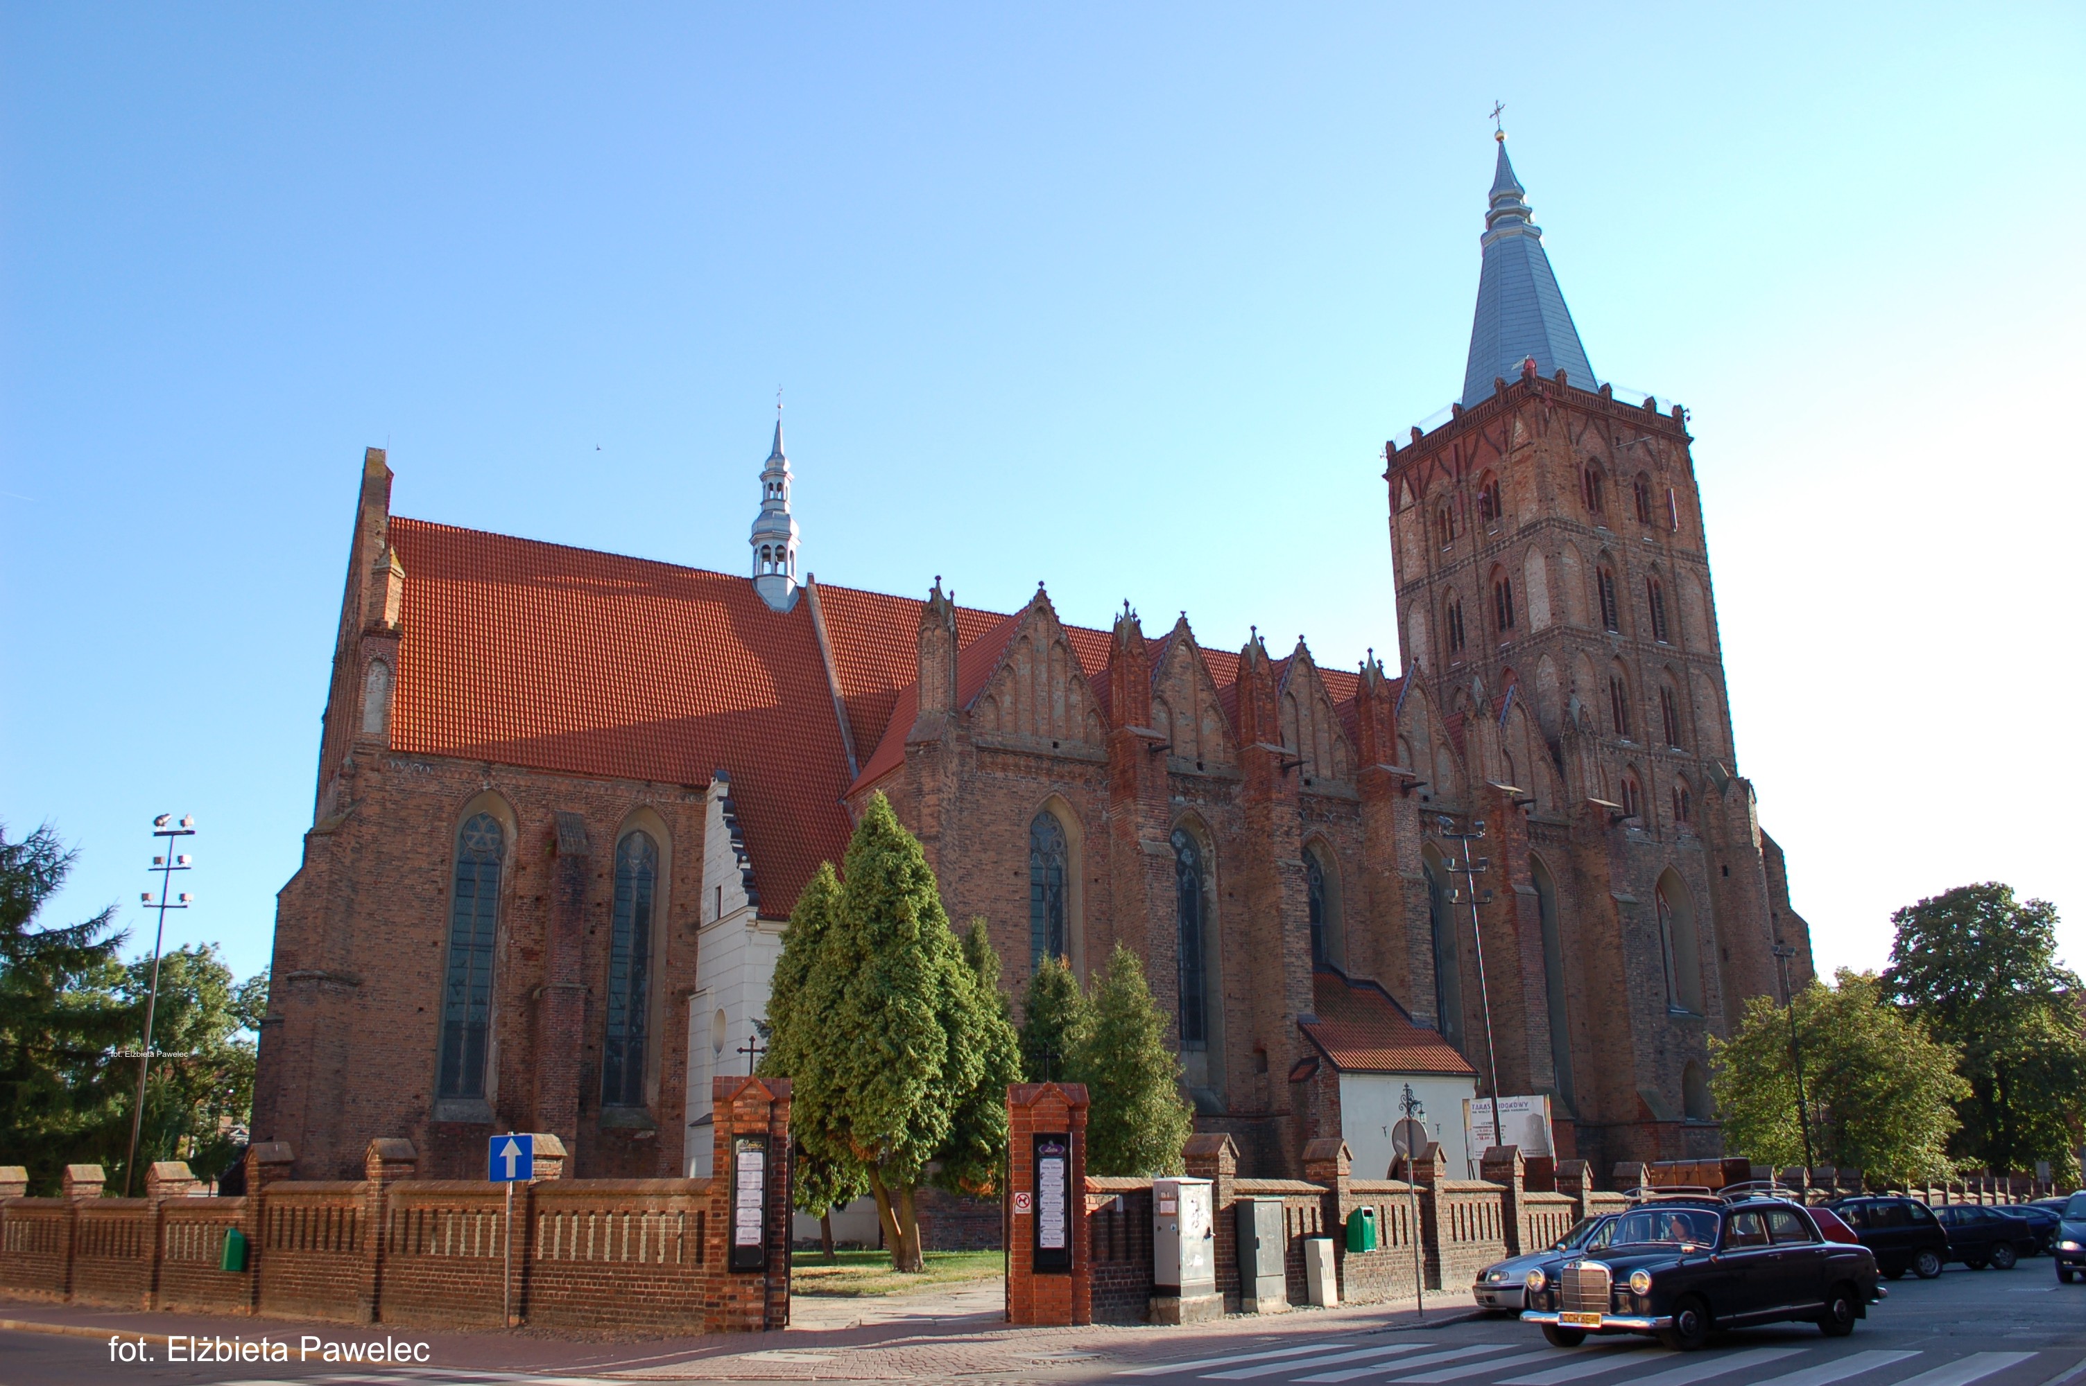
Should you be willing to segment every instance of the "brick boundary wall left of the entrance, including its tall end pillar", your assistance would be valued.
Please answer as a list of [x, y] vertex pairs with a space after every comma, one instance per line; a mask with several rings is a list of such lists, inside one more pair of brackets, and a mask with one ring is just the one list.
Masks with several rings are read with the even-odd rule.
[[[121, 1309], [315, 1317], [419, 1328], [507, 1326], [759, 1332], [789, 1323], [789, 1082], [713, 1084], [718, 1169], [734, 1136], [768, 1138], [768, 1240], [732, 1271], [730, 1178], [563, 1180], [536, 1136], [536, 1182], [417, 1180], [409, 1140], [371, 1140], [361, 1180], [290, 1180], [294, 1153], [246, 1153], [238, 1198], [196, 1198], [188, 1165], [146, 1171], [144, 1198], [106, 1198], [100, 1165], [69, 1165], [60, 1198], [27, 1198], [0, 1165], [0, 1290]], [[1085, 1100], [1085, 1098], [1081, 1098]], [[1083, 1144], [1083, 1140], [1081, 1140]], [[225, 1271], [232, 1232], [246, 1267]], [[511, 1280], [507, 1278], [511, 1273]]]

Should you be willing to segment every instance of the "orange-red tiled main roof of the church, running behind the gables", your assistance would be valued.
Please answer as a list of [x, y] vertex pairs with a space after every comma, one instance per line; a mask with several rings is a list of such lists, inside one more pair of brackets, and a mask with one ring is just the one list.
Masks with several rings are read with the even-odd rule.
[[[724, 769], [763, 913], [786, 915], [818, 863], [847, 852], [847, 746], [809, 600], [776, 613], [743, 575], [421, 519], [392, 517], [388, 536], [405, 567], [392, 746], [690, 788]], [[855, 754], [874, 752], [855, 784], [870, 786], [905, 759], [924, 602], [816, 592]], [[960, 704], [1018, 623], [955, 609]], [[1106, 717], [1110, 636], [1064, 629]], [[1164, 642], [1151, 652], [1156, 667]], [[1239, 657], [1204, 661], [1237, 725]], [[1320, 677], [1354, 736], [1358, 675]]]

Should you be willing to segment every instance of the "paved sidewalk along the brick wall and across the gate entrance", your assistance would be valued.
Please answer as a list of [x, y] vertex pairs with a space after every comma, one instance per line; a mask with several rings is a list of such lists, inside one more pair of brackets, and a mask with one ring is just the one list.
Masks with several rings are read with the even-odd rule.
[[[1427, 1323], [1448, 1323], [1473, 1313], [1469, 1292], [1429, 1294]], [[328, 1342], [426, 1342], [426, 1365], [405, 1373], [426, 1380], [430, 1367], [438, 1373], [486, 1373], [480, 1380], [513, 1373], [509, 1380], [624, 1380], [624, 1382], [891, 1382], [1001, 1378], [1022, 1382], [1070, 1380], [1095, 1371], [1137, 1367], [1139, 1363], [1181, 1357], [1193, 1342], [1208, 1346], [1212, 1357], [1254, 1351], [1289, 1338], [1310, 1340], [1325, 1334], [1366, 1334], [1389, 1328], [1414, 1328], [1410, 1305], [1362, 1305], [1345, 1309], [1297, 1309], [1285, 1315], [1233, 1315], [1216, 1323], [1191, 1328], [1158, 1326], [1089, 1326], [1089, 1328], [1010, 1328], [1001, 1317], [1001, 1282], [974, 1282], [893, 1294], [876, 1301], [843, 1301], [839, 1296], [799, 1296], [793, 1305], [793, 1326], [768, 1334], [711, 1334], [690, 1338], [613, 1340], [607, 1336], [572, 1336], [536, 1330], [455, 1332], [419, 1330], [394, 1323], [298, 1323], [263, 1317], [215, 1317], [184, 1313], [140, 1313], [92, 1309], [83, 1305], [46, 1305], [0, 1296], [0, 1336], [35, 1336], [52, 1351], [77, 1342], [81, 1369], [106, 1369], [111, 1336], [156, 1344], [154, 1369], [127, 1369], [123, 1380], [196, 1380], [196, 1367], [169, 1365], [169, 1336], [288, 1340], [305, 1336]], [[48, 1338], [46, 1338], [48, 1334]], [[23, 1338], [17, 1338], [21, 1342]], [[250, 1376], [259, 1369], [232, 1369], [229, 1376]], [[340, 1371], [338, 1365], [292, 1363], [273, 1367], [269, 1378], [319, 1376]], [[396, 1369], [390, 1369], [396, 1371]], [[388, 1371], [386, 1371], [388, 1376]], [[219, 1380], [217, 1376], [209, 1380]], [[361, 1380], [361, 1378], [357, 1378]]]

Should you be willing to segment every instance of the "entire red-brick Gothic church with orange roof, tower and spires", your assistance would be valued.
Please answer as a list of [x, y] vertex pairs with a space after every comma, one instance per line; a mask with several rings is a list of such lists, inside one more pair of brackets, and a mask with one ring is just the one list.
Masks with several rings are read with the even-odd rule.
[[[1504, 138], [1448, 423], [1385, 446], [1404, 667], [799, 575], [776, 427], [736, 577], [390, 513], [363, 463], [254, 1138], [707, 1173], [797, 892], [882, 790], [1020, 988], [1116, 942], [1204, 1130], [1289, 1173], [1391, 1094], [1550, 1094], [1560, 1155], [1719, 1148], [1711, 1034], [1811, 971], [1738, 775], [1685, 413], [1587, 365]], [[1483, 819], [1475, 911], [1444, 830]], [[690, 1096], [695, 1094], [695, 1096]]]

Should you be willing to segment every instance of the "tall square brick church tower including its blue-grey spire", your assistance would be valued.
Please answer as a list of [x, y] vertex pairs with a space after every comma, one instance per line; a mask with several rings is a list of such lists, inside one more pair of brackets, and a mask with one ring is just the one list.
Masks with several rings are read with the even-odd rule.
[[1802, 984], [1809, 927], [1738, 775], [1688, 415], [1594, 377], [1498, 140], [1462, 394], [1385, 444], [1404, 665], [1441, 717], [1410, 769], [1423, 821], [1494, 821], [1498, 927], [1546, 959], [1506, 1090], [1621, 1142], [1581, 1155], [1675, 1157], [1715, 1136], [1706, 1038], [1781, 996], [1784, 940]]

